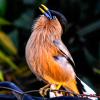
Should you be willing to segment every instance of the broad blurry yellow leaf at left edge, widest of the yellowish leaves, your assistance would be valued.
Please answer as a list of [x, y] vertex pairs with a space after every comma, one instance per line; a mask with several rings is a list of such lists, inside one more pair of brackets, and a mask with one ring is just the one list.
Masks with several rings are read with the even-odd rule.
[[17, 48], [13, 44], [12, 40], [8, 35], [6, 35], [4, 32], [0, 32], [0, 45], [7, 50], [8, 53], [16, 55], [17, 54]]

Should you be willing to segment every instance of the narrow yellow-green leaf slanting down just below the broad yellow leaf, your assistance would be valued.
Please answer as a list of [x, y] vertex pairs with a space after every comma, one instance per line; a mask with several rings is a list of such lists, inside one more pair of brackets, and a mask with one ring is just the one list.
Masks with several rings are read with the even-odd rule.
[[15, 69], [15, 70], [18, 69], [16, 64], [14, 64], [13, 61], [7, 55], [5, 55], [1, 50], [0, 50], [0, 60], [8, 64], [12, 69]]

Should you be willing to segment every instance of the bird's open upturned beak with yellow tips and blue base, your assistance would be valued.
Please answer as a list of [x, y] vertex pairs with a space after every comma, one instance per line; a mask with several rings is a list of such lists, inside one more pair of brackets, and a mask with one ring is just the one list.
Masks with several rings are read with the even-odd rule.
[[50, 10], [43, 4], [39, 7], [39, 10], [48, 18], [48, 19], [53, 19]]

